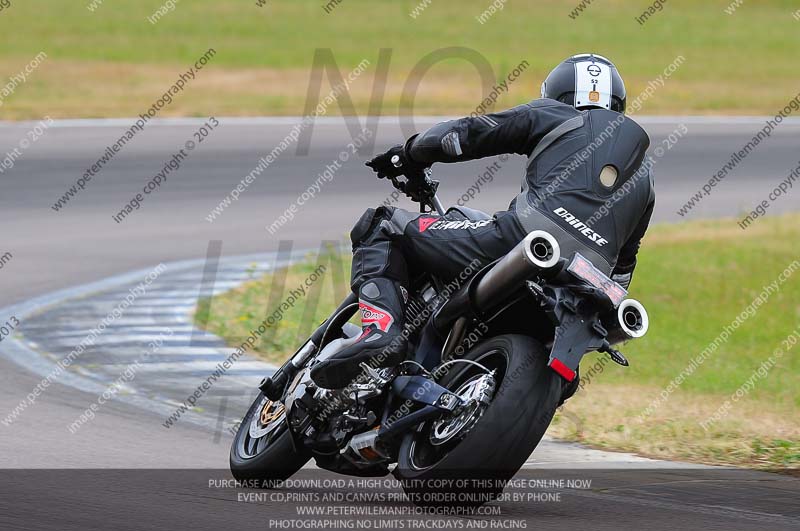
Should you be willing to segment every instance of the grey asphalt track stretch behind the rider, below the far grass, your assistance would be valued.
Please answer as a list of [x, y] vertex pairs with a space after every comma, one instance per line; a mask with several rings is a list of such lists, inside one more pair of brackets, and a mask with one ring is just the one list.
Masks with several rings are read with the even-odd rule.
[[[682, 218], [677, 209], [763, 126], [760, 118], [696, 120], [641, 120], [654, 148], [681, 123], [688, 131], [654, 168], [655, 222], [738, 216], [766, 197], [800, 158], [796, 143], [800, 121], [787, 120], [710, 197]], [[205, 217], [212, 209], [297, 123], [292, 118], [222, 118], [220, 127], [197, 145], [165, 185], [146, 197], [138, 211], [115, 223], [112, 215], [141, 192], [203, 123], [179, 120], [177, 125], [166, 121], [146, 126], [85, 190], [61, 211], [53, 211], [53, 203], [132, 122], [115, 120], [102, 126], [57, 122], [22, 152], [13, 168], [0, 174], [0, 250], [14, 255], [0, 270], [0, 306], [158, 262], [202, 258], [210, 240], [222, 240], [225, 256], [275, 251], [279, 240], [292, 240], [297, 248], [316, 248], [323, 239], [346, 238], [359, 215], [393, 191], [363, 166], [366, 156], [351, 158], [321, 193], [299, 209], [294, 220], [274, 235], [265, 230], [351, 141], [340, 120], [328, 119], [314, 127], [307, 156], [296, 155], [297, 144], [290, 146], [237, 202], [209, 223]], [[431, 123], [418, 119], [417, 127]], [[0, 156], [13, 149], [30, 128], [27, 123], [0, 126]], [[375, 149], [401, 141], [402, 134], [396, 120], [384, 119]], [[495, 161], [434, 166], [435, 178], [442, 181], [443, 203], [455, 203]], [[503, 163], [493, 181], [467, 206], [488, 212], [507, 207], [519, 191], [524, 161], [512, 156]], [[414, 208], [405, 199], [399, 205]], [[797, 205], [796, 198], [787, 196], [776, 202], [771, 213]]]

